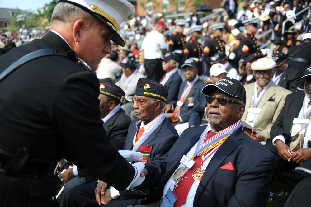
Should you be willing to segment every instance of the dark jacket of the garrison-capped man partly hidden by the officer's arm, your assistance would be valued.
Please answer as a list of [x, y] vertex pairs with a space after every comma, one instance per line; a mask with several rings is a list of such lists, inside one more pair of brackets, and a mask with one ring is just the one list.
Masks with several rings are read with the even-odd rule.
[[[130, 117], [120, 108], [119, 111], [104, 123], [103, 127], [108, 140], [111, 146], [116, 150], [121, 150], [123, 148], [131, 121]], [[80, 177], [85, 177], [86, 182], [96, 180], [87, 169], [82, 170], [78, 167], [78, 175]]]

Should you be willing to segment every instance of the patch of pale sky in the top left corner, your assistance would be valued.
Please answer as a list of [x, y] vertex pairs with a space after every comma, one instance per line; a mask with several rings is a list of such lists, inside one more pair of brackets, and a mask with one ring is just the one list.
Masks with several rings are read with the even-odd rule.
[[51, 0], [0, 0], [0, 8], [12, 8], [18, 7], [21, 10], [37, 11], [38, 8], [42, 8], [44, 4], [48, 4]]

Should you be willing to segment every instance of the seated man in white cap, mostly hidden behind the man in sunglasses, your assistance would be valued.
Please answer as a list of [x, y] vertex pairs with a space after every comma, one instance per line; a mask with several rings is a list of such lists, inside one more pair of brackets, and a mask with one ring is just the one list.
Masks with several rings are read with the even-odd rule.
[[[219, 79], [227, 76], [227, 71], [223, 64], [216, 63], [210, 67], [210, 82], [215, 83]], [[205, 87], [205, 84], [200, 85], [199, 89], [196, 92], [194, 98], [193, 109], [188, 122], [177, 124], [175, 129], [177, 130], [179, 136], [181, 133], [186, 130], [189, 126], [200, 126], [206, 125], [208, 120], [206, 119], [206, 102], [205, 95], [202, 93], [202, 89]], [[200, 117], [200, 119], [199, 119]]]

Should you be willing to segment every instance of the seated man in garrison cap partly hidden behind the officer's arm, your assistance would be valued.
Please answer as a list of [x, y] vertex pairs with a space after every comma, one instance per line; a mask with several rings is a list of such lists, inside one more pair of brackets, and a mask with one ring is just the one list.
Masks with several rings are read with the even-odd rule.
[[[99, 90], [99, 109], [101, 111], [101, 119], [104, 122], [103, 127], [111, 146], [116, 150], [121, 150], [131, 123], [130, 117], [125, 115], [123, 109], [120, 108], [120, 100], [125, 93], [120, 87], [111, 82], [100, 83]], [[83, 182], [94, 180], [96, 180], [96, 178], [92, 176], [87, 169], [81, 170], [78, 167], [73, 167], [66, 170], [63, 174], [65, 185], [60, 206], [68, 206], [68, 198], [71, 189]]]

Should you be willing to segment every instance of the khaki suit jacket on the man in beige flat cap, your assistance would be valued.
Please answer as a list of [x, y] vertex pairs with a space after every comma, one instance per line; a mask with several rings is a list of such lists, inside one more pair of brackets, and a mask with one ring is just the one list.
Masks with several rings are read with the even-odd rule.
[[[256, 82], [244, 86], [246, 91], [246, 106], [242, 121], [246, 120], [248, 108], [252, 107], [250, 104], [252, 102], [255, 84]], [[271, 127], [284, 106], [286, 96], [290, 93], [292, 92], [272, 82], [265, 95], [262, 97], [262, 100], [259, 102], [257, 108], [261, 108], [261, 110], [254, 128], [265, 138], [270, 138]]]

